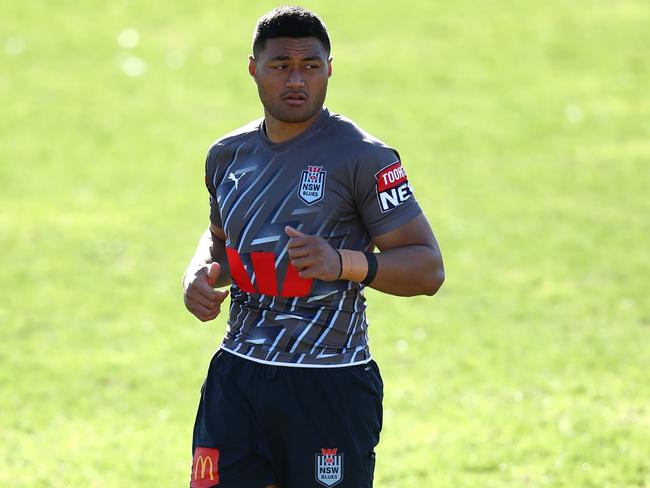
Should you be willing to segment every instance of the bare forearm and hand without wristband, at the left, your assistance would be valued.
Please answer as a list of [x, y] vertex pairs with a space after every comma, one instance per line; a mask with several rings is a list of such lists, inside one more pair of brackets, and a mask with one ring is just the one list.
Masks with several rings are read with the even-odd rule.
[[211, 225], [199, 239], [194, 256], [183, 276], [183, 297], [187, 309], [199, 320], [214, 319], [228, 291], [215, 287], [231, 283], [226, 256], [225, 234]]

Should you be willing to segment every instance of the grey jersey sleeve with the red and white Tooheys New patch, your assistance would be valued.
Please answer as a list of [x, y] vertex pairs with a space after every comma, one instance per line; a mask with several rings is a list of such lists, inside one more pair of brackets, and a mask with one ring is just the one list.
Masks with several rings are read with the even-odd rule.
[[396, 150], [372, 146], [356, 163], [357, 211], [371, 237], [395, 230], [422, 213]]

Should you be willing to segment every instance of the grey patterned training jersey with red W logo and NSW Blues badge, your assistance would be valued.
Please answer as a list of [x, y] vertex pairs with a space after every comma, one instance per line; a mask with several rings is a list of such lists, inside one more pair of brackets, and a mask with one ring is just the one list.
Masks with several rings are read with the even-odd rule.
[[323, 109], [279, 144], [266, 136], [263, 119], [219, 139], [205, 180], [233, 279], [222, 347], [286, 366], [369, 361], [363, 285], [300, 278], [284, 228], [334, 248], [370, 249], [373, 237], [421, 213], [397, 151]]

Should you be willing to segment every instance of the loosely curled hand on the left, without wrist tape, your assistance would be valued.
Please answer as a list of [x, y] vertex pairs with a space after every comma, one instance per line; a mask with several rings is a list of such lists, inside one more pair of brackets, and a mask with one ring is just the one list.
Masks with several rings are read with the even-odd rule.
[[201, 266], [184, 280], [185, 307], [201, 322], [214, 320], [221, 312], [221, 304], [228, 296], [228, 290], [215, 290], [219, 277], [219, 263]]

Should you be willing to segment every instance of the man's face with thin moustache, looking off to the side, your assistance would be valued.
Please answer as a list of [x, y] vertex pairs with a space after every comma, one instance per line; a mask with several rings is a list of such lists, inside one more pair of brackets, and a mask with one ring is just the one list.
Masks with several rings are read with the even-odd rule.
[[325, 102], [332, 59], [314, 37], [279, 37], [249, 58], [248, 70], [268, 114], [281, 122], [304, 122]]

